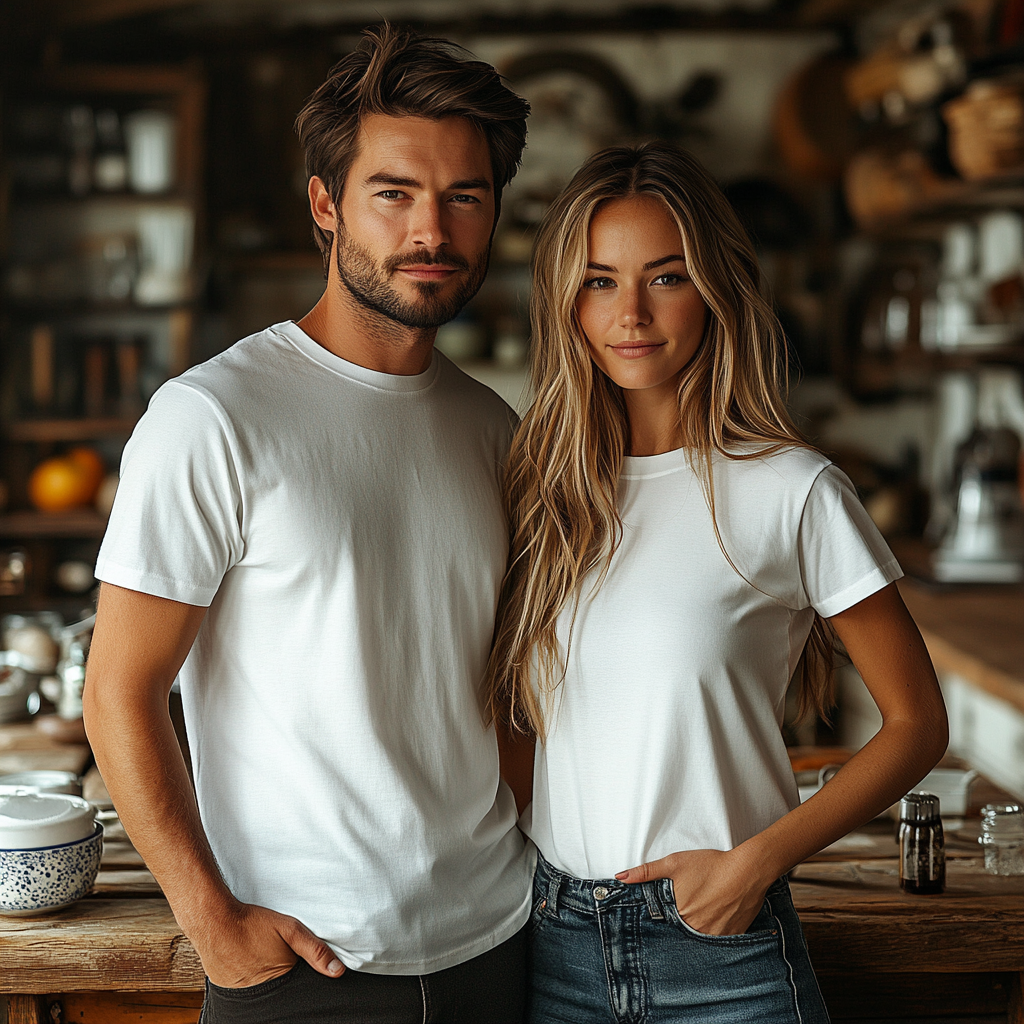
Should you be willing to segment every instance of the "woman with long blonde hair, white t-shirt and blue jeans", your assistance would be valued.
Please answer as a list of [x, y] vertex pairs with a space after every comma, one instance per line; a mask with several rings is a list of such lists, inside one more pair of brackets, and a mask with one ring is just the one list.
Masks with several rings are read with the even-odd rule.
[[[946, 745], [899, 566], [787, 418], [753, 249], [692, 157], [593, 157], [534, 285], [487, 680], [520, 806], [536, 764], [530, 1021], [826, 1021], [785, 874]], [[784, 696], [800, 672], [827, 713], [833, 631], [884, 724], [801, 805]]]

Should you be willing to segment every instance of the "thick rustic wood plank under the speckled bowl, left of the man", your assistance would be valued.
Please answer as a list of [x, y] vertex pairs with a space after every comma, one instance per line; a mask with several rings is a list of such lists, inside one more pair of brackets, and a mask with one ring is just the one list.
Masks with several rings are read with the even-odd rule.
[[85, 899], [42, 918], [0, 918], [0, 992], [187, 992], [203, 966], [162, 898]]

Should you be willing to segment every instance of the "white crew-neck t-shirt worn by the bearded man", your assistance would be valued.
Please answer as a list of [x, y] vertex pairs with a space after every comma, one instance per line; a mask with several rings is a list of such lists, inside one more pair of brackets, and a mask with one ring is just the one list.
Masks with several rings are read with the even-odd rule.
[[165, 384], [96, 575], [209, 605], [180, 673], [231, 892], [350, 968], [426, 974], [513, 935], [531, 852], [479, 684], [508, 553], [513, 414], [279, 324]]

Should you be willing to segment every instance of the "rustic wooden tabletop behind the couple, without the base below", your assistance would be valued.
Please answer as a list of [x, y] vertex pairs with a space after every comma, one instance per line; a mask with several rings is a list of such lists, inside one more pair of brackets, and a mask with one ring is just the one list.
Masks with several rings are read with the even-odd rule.
[[[940, 896], [900, 891], [896, 860], [801, 864], [793, 894], [822, 974], [1024, 972], [1024, 878], [950, 860]], [[160, 895], [94, 895], [0, 918], [0, 992], [200, 991], [203, 968]]]

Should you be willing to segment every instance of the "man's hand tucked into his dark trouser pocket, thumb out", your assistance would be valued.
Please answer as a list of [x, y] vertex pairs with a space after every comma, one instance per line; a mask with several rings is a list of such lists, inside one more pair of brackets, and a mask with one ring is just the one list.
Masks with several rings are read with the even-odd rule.
[[299, 959], [329, 978], [344, 973], [334, 950], [305, 925], [274, 910], [237, 903], [227, 915], [186, 929], [203, 970], [221, 988], [248, 988], [287, 974]]

